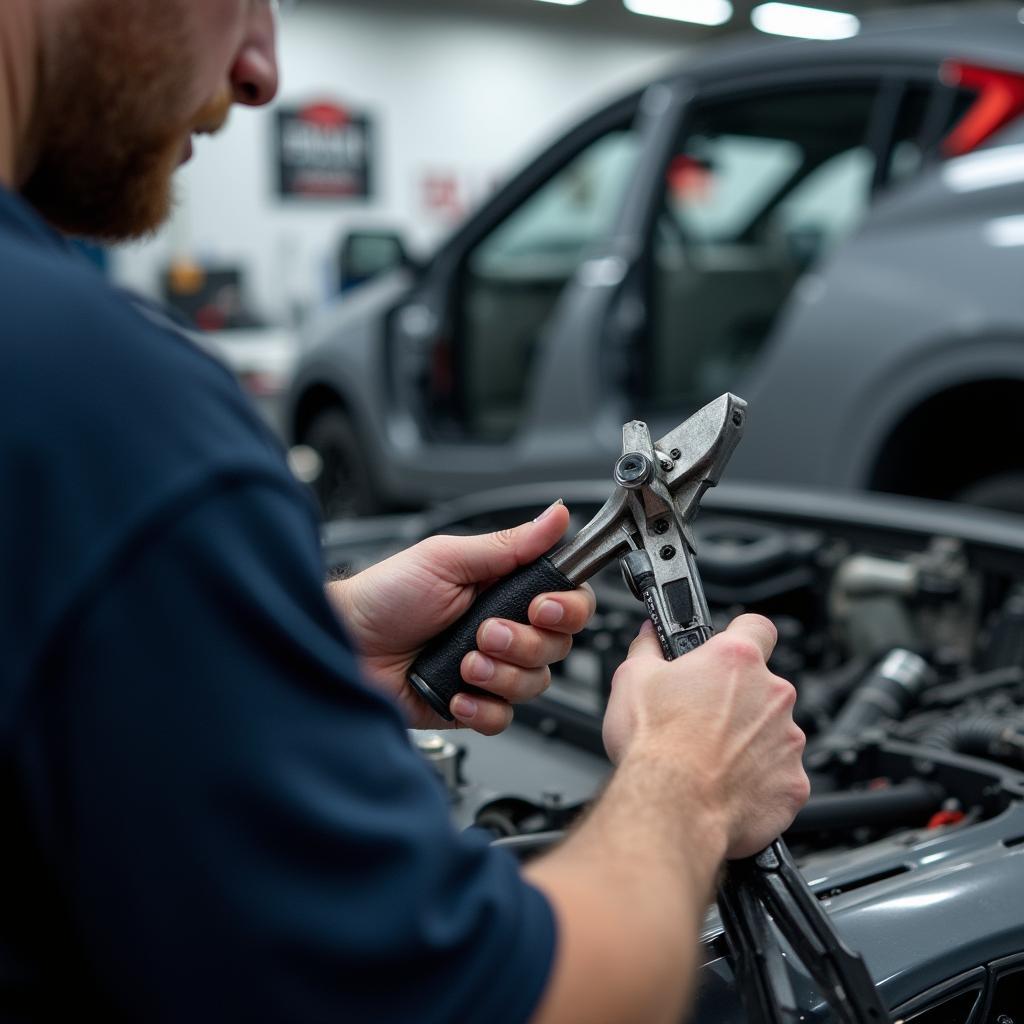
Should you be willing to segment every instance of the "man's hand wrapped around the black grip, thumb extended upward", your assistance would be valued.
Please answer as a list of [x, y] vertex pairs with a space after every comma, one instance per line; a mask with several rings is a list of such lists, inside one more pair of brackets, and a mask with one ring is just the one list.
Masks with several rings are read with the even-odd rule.
[[[328, 597], [362, 658], [367, 676], [395, 699], [414, 729], [449, 728], [406, 682], [421, 648], [473, 603], [487, 584], [540, 558], [565, 532], [569, 515], [552, 505], [534, 522], [482, 537], [432, 537], [349, 580]], [[529, 626], [488, 618], [478, 650], [462, 663], [462, 678], [493, 696], [460, 693], [451, 711], [461, 726], [494, 735], [512, 721], [512, 705], [543, 693], [549, 666], [560, 662], [594, 613], [594, 592], [542, 594]]]

